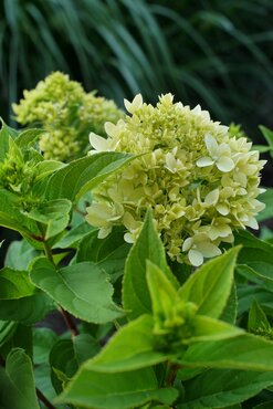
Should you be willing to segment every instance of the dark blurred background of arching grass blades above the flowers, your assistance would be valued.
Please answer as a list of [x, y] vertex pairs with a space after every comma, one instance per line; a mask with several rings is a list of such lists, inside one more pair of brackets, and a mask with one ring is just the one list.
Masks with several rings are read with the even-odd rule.
[[271, 0], [2, 0], [0, 15], [2, 107], [61, 70], [119, 105], [171, 92], [254, 138], [273, 127]]

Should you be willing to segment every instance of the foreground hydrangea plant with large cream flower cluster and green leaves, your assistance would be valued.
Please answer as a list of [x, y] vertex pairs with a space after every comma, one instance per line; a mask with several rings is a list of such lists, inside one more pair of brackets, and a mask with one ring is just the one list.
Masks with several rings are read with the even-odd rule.
[[125, 105], [69, 162], [2, 123], [0, 226], [21, 238], [0, 269], [0, 408], [271, 408], [272, 233], [245, 229], [263, 161], [169, 94]]

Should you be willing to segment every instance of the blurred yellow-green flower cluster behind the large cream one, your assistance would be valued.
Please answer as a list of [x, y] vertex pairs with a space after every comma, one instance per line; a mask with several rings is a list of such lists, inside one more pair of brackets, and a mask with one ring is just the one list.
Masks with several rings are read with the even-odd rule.
[[86, 150], [91, 130], [106, 136], [104, 123], [124, 117], [113, 101], [86, 94], [80, 83], [61, 72], [24, 91], [23, 96], [12, 106], [15, 118], [22, 125], [39, 124], [46, 130], [40, 141], [45, 159], [77, 158]]

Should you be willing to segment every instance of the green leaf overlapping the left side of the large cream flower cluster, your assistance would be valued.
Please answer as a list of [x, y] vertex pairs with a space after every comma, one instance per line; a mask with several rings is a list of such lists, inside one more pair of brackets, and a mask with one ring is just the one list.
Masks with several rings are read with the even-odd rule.
[[57, 170], [49, 180], [49, 200], [66, 198], [76, 202], [114, 171], [133, 160], [129, 154], [102, 153], [74, 160]]

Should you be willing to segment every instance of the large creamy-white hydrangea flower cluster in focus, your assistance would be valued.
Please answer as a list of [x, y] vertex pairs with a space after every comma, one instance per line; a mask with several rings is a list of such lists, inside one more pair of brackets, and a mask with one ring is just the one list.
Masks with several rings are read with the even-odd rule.
[[141, 155], [96, 188], [86, 220], [99, 228], [101, 238], [124, 224], [125, 240], [134, 242], [150, 207], [169, 256], [198, 266], [220, 254], [222, 242], [233, 242], [234, 229], [258, 228], [265, 161], [246, 138], [231, 137], [207, 111], [172, 98], [162, 95], [154, 107], [138, 94], [125, 101], [130, 115], [105, 124], [107, 139], [90, 135], [91, 154]]

